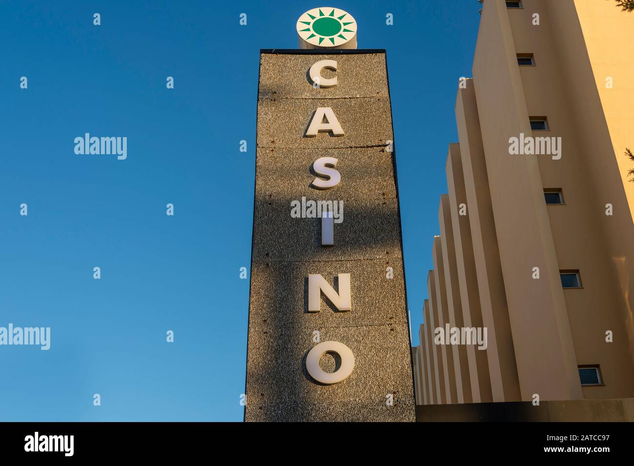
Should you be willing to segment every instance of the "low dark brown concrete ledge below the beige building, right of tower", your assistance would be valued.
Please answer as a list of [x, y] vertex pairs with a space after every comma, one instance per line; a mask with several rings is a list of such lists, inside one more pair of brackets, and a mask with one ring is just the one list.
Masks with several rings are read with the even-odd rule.
[[417, 405], [417, 422], [634, 422], [634, 398]]

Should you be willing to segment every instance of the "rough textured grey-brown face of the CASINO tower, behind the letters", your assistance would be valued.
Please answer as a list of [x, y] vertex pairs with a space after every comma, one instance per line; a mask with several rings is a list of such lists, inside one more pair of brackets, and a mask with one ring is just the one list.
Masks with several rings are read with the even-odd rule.
[[[314, 89], [307, 71], [327, 58], [339, 63], [339, 83]], [[333, 108], [346, 134], [305, 137], [317, 107]], [[257, 108], [245, 420], [415, 420], [385, 56], [262, 54]], [[320, 157], [339, 159], [342, 181], [330, 190], [311, 186]], [[332, 247], [321, 246], [321, 219], [290, 216], [302, 197], [343, 201]], [[335, 290], [335, 277], [351, 274], [351, 311], [337, 311], [322, 294], [321, 311], [308, 313], [312, 273]], [[333, 385], [310, 377], [315, 331], [353, 351], [350, 377]], [[326, 372], [338, 364], [330, 354], [320, 360]]]

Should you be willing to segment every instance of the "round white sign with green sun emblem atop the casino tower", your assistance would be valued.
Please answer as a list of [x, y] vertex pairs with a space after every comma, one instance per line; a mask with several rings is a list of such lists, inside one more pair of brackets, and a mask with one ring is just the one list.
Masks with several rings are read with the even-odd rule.
[[326, 6], [299, 16], [301, 49], [356, 49], [356, 21], [344, 10]]

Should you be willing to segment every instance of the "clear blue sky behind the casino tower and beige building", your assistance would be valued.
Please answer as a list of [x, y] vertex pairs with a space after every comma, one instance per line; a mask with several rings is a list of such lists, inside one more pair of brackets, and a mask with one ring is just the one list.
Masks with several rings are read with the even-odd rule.
[[[387, 49], [417, 344], [477, 0], [3, 1], [0, 327], [51, 327], [51, 349], [0, 346], [0, 421], [242, 420], [258, 54], [318, 6]], [[127, 159], [75, 155], [84, 133]]]

